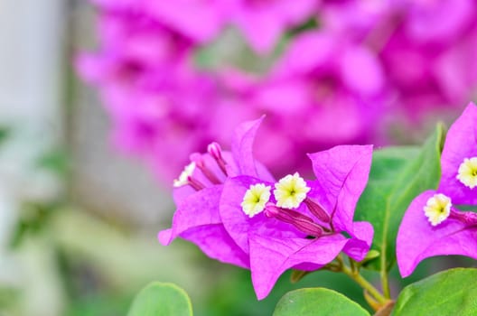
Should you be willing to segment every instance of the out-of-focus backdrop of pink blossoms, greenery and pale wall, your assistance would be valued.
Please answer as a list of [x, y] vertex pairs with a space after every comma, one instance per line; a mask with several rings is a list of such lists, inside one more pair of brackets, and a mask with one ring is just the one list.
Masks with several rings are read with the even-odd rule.
[[257, 302], [248, 271], [159, 245], [172, 181], [262, 114], [277, 176], [334, 144], [419, 144], [475, 100], [476, 16], [472, 0], [0, 0], [0, 315], [125, 315], [154, 280], [196, 315], [271, 314], [304, 286], [360, 300], [320, 272]]

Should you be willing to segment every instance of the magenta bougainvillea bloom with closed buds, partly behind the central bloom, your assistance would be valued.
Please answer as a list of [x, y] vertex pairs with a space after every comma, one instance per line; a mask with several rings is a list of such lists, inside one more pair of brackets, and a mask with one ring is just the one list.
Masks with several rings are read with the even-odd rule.
[[267, 169], [253, 160], [252, 144], [261, 119], [239, 125], [232, 140], [231, 153], [222, 152], [212, 143], [208, 153], [194, 153], [174, 181], [174, 200], [177, 210], [173, 227], [159, 232], [158, 239], [169, 245], [175, 237], [191, 241], [211, 258], [232, 265], [248, 267], [248, 254], [229, 237], [220, 213], [223, 182], [229, 176], [247, 174], [274, 181]]

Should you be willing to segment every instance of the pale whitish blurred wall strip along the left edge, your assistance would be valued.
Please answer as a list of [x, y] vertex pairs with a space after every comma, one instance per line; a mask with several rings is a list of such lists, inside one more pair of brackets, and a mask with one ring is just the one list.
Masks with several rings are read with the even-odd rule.
[[61, 139], [66, 4], [0, 0], [0, 126], [11, 128], [11, 137], [0, 144], [0, 283], [24, 291], [25, 315], [61, 313], [61, 289], [42, 246], [11, 254], [5, 245], [21, 201], [48, 199], [58, 189], [51, 175], [36, 172], [34, 164]]

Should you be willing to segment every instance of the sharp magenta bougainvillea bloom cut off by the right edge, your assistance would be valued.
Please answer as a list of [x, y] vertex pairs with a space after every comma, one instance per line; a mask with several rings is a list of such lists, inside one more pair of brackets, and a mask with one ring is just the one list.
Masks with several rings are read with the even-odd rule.
[[455, 205], [477, 205], [477, 107], [470, 104], [447, 133], [437, 191], [412, 201], [397, 233], [397, 265], [411, 274], [430, 256], [477, 259], [477, 214]]

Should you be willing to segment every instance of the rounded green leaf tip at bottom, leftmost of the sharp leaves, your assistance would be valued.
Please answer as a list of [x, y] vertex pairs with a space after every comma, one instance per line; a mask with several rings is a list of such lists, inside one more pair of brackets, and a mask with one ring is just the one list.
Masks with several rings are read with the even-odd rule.
[[192, 304], [185, 291], [173, 283], [153, 282], [136, 298], [128, 316], [192, 316]]

